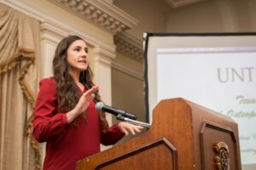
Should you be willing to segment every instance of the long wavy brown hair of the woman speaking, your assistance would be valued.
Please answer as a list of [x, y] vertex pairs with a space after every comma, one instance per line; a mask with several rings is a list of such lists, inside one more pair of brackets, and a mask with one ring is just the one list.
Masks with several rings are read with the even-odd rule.
[[[80, 94], [79, 89], [73, 77], [71, 77], [67, 72], [67, 48], [75, 41], [83, 40], [78, 36], [68, 36], [59, 42], [56, 50], [55, 57], [53, 59], [53, 73], [56, 81], [56, 90], [58, 95], [58, 105], [61, 111], [71, 111], [78, 104]], [[85, 42], [85, 41], [84, 41]], [[95, 85], [92, 82], [92, 71], [88, 66], [86, 71], [81, 71], [79, 76], [79, 82], [83, 83], [86, 88], [91, 88]], [[96, 92], [95, 102], [101, 101], [100, 95]], [[108, 122], [106, 120], [105, 113], [99, 114], [101, 130], [106, 132], [108, 129]], [[86, 116], [84, 116], [86, 119]]]

